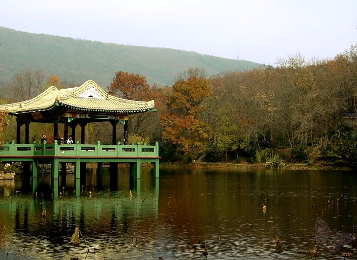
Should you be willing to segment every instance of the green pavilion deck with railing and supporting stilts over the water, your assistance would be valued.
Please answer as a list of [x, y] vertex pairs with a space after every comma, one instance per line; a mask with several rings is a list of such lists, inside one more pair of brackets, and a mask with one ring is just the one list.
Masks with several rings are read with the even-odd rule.
[[[117, 178], [117, 164], [127, 163], [130, 165], [130, 175], [134, 178], [141, 177], [141, 163], [150, 162], [154, 164], [154, 175], [159, 177], [159, 144], [80, 144], [76, 141], [75, 144], [37, 144], [34, 141], [32, 144], [16, 144], [15, 141], [6, 142], [0, 145], [0, 161], [3, 162], [22, 162], [25, 171], [31, 172], [31, 178], [37, 178], [38, 164], [52, 164], [52, 179], [54, 183], [54, 193], [58, 193], [58, 179], [60, 174], [59, 164], [72, 163], [74, 164], [74, 180], [77, 192], [80, 190], [80, 179], [83, 177], [85, 164], [89, 162], [97, 163], [98, 177], [101, 174], [103, 163], [110, 163], [114, 169], [111, 173], [113, 179]], [[31, 167], [30, 167], [31, 165]], [[30, 170], [31, 168], [31, 170]], [[64, 167], [65, 168], [65, 167]], [[83, 169], [84, 168], [84, 169]], [[116, 170], [115, 170], [116, 168]], [[63, 169], [63, 167], [62, 167]], [[61, 173], [65, 175], [65, 172]], [[57, 180], [57, 181], [56, 181]], [[57, 187], [57, 188], [56, 188]]]

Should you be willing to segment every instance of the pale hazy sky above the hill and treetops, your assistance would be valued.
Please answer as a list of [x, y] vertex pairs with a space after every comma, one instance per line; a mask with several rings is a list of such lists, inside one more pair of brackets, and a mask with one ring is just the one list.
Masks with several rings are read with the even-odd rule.
[[334, 58], [357, 44], [357, 1], [5, 0], [0, 26], [275, 65], [298, 52]]

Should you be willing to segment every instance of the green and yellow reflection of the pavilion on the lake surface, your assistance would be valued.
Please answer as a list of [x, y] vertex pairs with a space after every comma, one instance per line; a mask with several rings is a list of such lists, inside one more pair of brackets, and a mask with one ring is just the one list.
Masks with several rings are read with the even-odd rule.
[[[0, 207], [0, 223], [5, 224], [7, 230], [5, 233], [5, 227], [1, 227], [0, 258], [5, 259], [1, 256], [8, 251], [9, 259], [70, 259], [73, 255], [81, 256], [80, 248], [85, 246], [90, 248], [89, 258], [96, 259], [104, 245], [98, 243], [98, 239], [103, 241], [104, 236], [111, 236], [105, 248], [107, 256], [117, 253], [120, 244], [120, 249], [124, 250], [125, 239], [131, 244], [135, 231], [139, 233], [139, 241], [145, 241], [145, 246], [154, 244], [149, 240], [152, 237], [147, 238], [140, 231], [151, 227], [152, 221], [158, 219], [159, 178], [153, 179], [144, 171], [142, 177], [136, 180], [141, 181], [141, 193], [140, 185], [135, 184], [135, 189], [139, 190], [133, 190], [132, 198], [129, 198], [127, 190], [111, 191], [110, 197], [106, 190], [92, 196], [87, 192], [80, 196], [81, 199], [74, 198], [72, 194], [54, 199], [48, 195], [44, 198], [39, 196], [36, 199], [29, 194], [15, 196], [12, 190], [12, 199], [9, 200], [10, 194], [4, 196], [0, 191], [0, 204], [6, 205]], [[46, 217], [42, 218], [44, 208]], [[78, 247], [69, 243], [75, 226], [79, 226], [85, 236], [85, 244], [81, 239]], [[19, 251], [29, 251], [29, 255], [15, 257], [18, 246], [21, 247]], [[43, 250], [38, 250], [41, 247]], [[61, 250], [58, 250], [59, 247]], [[84, 259], [84, 256], [80, 258]]]

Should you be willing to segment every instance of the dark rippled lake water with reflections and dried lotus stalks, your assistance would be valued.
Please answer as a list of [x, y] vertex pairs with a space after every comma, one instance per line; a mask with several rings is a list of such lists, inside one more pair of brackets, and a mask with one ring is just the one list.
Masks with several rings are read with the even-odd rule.
[[[79, 197], [67, 175], [64, 196], [54, 199], [48, 175], [37, 189], [21, 178], [0, 181], [0, 259], [204, 259], [205, 242], [208, 259], [311, 259], [316, 233], [329, 236], [318, 242], [317, 259], [343, 259], [347, 250], [356, 259], [351, 243], [343, 244], [357, 224], [355, 172], [177, 168], [161, 169], [160, 179], [149, 170], [137, 181], [128, 175], [120, 169], [113, 189], [108, 171], [98, 185], [89, 169]], [[84, 238], [72, 245], [75, 227]]]

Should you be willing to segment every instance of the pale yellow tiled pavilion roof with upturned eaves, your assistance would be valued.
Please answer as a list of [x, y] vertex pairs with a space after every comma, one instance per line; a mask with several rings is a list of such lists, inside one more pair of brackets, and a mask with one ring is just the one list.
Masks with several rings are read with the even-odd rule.
[[40, 95], [8, 105], [1, 105], [9, 115], [41, 112], [57, 107], [96, 113], [135, 114], [155, 109], [154, 100], [134, 101], [109, 95], [94, 81], [89, 80], [76, 88], [57, 89], [52, 86]]

